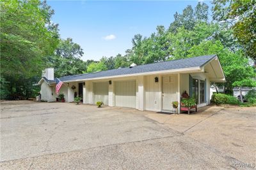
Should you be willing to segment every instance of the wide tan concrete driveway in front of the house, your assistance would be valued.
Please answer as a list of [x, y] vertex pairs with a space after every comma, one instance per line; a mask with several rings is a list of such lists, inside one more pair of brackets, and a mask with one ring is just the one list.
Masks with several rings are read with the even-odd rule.
[[[255, 108], [254, 108], [255, 109]], [[1, 103], [1, 169], [255, 166], [252, 108], [166, 115], [74, 103]]]

